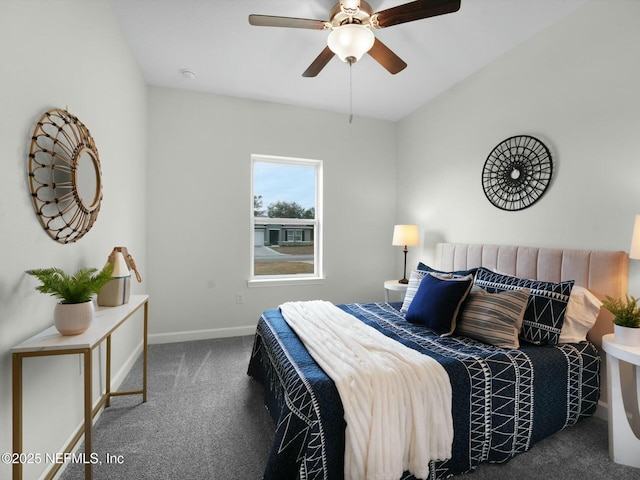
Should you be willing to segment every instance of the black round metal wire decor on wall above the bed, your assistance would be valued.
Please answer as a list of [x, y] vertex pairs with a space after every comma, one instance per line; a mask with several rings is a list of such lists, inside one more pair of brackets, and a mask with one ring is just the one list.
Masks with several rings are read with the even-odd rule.
[[553, 161], [544, 143], [529, 135], [500, 142], [482, 169], [482, 189], [502, 210], [523, 210], [540, 199], [551, 181]]

